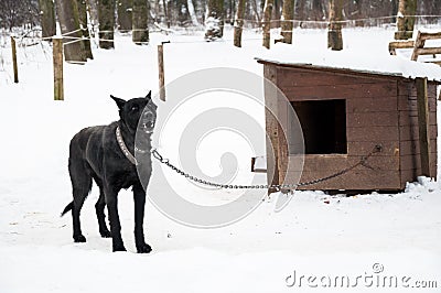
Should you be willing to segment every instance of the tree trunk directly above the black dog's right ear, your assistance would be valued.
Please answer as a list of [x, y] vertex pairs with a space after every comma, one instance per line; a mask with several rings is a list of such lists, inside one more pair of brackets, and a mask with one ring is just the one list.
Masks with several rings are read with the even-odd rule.
[[149, 42], [148, 7], [144, 0], [133, 0], [132, 41], [137, 45]]

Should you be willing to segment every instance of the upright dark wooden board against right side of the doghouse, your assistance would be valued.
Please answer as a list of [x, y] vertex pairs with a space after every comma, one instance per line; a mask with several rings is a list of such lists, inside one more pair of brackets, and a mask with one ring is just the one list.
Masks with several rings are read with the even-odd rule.
[[427, 82], [427, 77], [418, 77], [416, 79], [421, 175], [430, 177], [429, 104]]

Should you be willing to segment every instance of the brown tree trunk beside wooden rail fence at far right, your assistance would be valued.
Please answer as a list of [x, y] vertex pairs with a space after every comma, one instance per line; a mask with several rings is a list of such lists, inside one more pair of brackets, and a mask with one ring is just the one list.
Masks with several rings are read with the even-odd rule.
[[417, 0], [399, 0], [398, 21], [395, 40], [408, 40], [412, 37]]

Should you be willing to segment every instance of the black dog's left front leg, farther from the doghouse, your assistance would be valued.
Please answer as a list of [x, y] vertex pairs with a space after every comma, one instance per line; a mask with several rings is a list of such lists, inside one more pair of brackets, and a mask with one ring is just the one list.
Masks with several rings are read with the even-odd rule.
[[118, 192], [110, 186], [105, 187], [106, 205], [110, 220], [111, 242], [115, 251], [126, 251], [121, 237], [121, 224], [118, 215]]

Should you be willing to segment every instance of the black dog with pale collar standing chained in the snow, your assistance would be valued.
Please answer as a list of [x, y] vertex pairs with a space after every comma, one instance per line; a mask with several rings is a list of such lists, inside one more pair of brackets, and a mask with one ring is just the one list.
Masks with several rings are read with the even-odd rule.
[[[101, 237], [112, 237], [114, 251], [126, 251], [118, 216], [118, 193], [121, 188], [132, 186], [136, 247], [139, 253], [149, 253], [151, 248], [146, 243], [143, 234], [146, 192], [137, 173], [135, 137], [137, 131], [142, 131], [148, 138], [144, 141], [143, 150], [137, 149], [137, 151], [148, 154], [143, 156], [147, 162], [146, 160], [142, 162], [142, 164], [147, 164], [143, 173], [147, 170], [148, 182], [151, 175], [150, 135], [154, 128], [157, 106], [151, 100], [151, 93], [146, 98], [135, 98], [128, 101], [110, 97], [118, 105], [120, 120], [108, 126], [85, 128], [71, 141], [68, 170], [74, 200], [64, 208], [62, 216], [72, 209], [74, 241], [85, 242], [86, 238], [82, 234], [79, 223], [79, 211], [92, 189], [94, 180], [99, 187], [99, 199], [95, 205], [99, 234]], [[111, 232], [105, 221], [106, 205]]]

